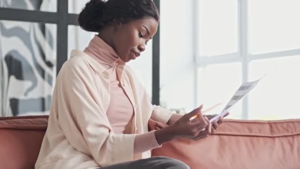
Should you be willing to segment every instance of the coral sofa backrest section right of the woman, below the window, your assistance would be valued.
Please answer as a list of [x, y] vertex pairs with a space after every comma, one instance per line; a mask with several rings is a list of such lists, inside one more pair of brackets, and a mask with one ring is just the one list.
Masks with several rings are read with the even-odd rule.
[[191, 169], [300, 169], [300, 120], [227, 119], [204, 139], [176, 139], [152, 156], [179, 159]]

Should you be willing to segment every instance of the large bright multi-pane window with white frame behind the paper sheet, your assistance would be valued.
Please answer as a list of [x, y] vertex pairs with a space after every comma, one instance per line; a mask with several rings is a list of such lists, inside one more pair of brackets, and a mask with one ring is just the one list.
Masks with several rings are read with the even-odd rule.
[[266, 77], [230, 118], [300, 118], [299, 0], [199, 0], [197, 103], [227, 103], [237, 87]]

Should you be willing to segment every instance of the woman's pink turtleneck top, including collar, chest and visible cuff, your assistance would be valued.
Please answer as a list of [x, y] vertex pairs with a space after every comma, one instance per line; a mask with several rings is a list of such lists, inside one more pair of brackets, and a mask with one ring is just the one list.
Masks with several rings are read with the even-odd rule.
[[[111, 96], [106, 114], [113, 132], [126, 133], [126, 127], [133, 120], [134, 109], [116, 73], [118, 64], [125, 63], [120, 60], [115, 50], [97, 35], [90, 41], [84, 52], [94, 58], [109, 72]], [[154, 131], [138, 134], [135, 137], [134, 154], [158, 147], [160, 145], [156, 141]]]

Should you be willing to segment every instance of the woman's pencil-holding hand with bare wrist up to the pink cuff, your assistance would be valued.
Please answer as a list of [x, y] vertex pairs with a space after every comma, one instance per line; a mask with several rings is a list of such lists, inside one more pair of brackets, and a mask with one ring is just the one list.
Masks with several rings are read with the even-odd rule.
[[[201, 105], [199, 108], [184, 115], [172, 125], [156, 130], [154, 134], [157, 143], [162, 144], [171, 141], [174, 138], [180, 137], [198, 140], [200, 138], [208, 136], [211, 133], [212, 125], [207, 117], [204, 117], [202, 115], [202, 107], [203, 106]], [[197, 114], [197, 118], [189, 121], [190, 117]]]

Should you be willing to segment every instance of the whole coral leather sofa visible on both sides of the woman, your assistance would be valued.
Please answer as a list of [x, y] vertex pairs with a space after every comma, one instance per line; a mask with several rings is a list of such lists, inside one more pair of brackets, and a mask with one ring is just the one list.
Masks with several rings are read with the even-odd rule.
[[[48, 116], [0, 118], [0, 169], [34, 169], [47, 122]], [[150, 121], [150, 130], [158, 123]], [[208, 137], [175, 139], [152, 156], [179, 159], [191, 169], [300, 169], [300, 120], [226, 119]]]

